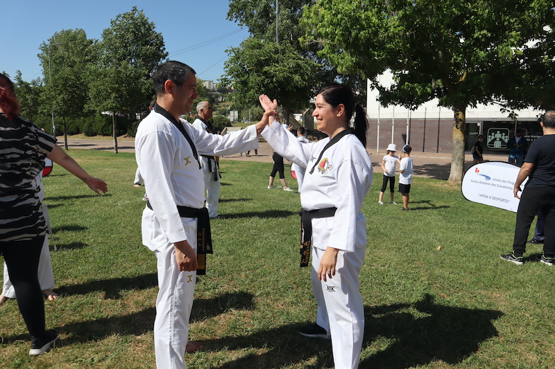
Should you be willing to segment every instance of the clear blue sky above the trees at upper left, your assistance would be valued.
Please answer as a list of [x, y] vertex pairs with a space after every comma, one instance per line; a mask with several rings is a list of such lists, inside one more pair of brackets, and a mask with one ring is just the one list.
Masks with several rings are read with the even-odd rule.
[[19, 70], [28, 82], [42, 77], [37, 57], [42, 42], [76, 28], [89, 39], [100, 39], [110, 21], [133, 6], [162, 33], [169, 59], [189, 64], [201, 80], [219, 80], [228, 59], [225, 50], [249, 36], [247, 28], [225, 19], [228, 0], [2, 0], [0, 71], [14, 78]]

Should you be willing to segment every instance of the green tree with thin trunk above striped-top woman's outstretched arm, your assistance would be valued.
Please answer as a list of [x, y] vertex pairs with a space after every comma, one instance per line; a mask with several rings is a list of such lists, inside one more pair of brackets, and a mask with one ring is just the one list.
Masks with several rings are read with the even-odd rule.
[[87, 83], [83, 71], [93, 58], [92, 39], [85, 30], [61, 30], [40, 46], [44, 89], [42, 111], [62, 117], [67, 150], [68, 116], [83, 114], [87, 100]]

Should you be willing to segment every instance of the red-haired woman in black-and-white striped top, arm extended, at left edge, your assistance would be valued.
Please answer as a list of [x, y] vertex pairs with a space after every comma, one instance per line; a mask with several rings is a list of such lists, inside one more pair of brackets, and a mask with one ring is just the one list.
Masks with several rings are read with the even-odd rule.
[[58, 339], [56, 330], [44, 329], [44, 301], [37, 279], [37, 265], [46, 236], [40, 199], [34, 179], [47, 157], [99, 193], [108, 187], [64, 150], [56, 138], [19, 118], [19, 101], [12, 82], [0, 74], [0, 254], [8, 265], [17, 304], [32, 336], [29, 354], [42, 354]]

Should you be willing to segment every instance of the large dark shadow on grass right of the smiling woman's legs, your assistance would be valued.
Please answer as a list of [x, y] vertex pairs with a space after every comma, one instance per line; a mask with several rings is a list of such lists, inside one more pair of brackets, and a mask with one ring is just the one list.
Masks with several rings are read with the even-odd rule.
[[[427, 316], [416, 317], [411, 309]], [[497, 336], [493, 321], [503, 315], [497, 310], [440, 305], [429, 294], [413, 304], [368, 308], [365, 343], [379, 337], [393, 343], [360, 368], [412, 368], [436, 360], [455, 365], [477, 352], [481, 342]]]

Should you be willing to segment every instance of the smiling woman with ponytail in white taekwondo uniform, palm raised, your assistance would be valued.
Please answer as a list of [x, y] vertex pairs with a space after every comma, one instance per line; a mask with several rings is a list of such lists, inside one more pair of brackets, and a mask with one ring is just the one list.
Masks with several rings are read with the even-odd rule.
[[[266, 111], [276, 100], [260, 96]], [[356, 112], [354, 130], [349, 128]], [[323, 87], [312, 114], [318, 130], [329, 136], [300, 144], [271, 124], [262, 136], [278, 154], [306, 167], [302, 205], [301, 267], [312, 253], [312, 289], [318, 303], [317, 325], [301, 329], [306, 336], [331, 334], [335, 368], [359, 366], [364, 334], [364, 305], [359, 274], [366, 251], [366, 219], [362, 202], [373, 179], [366, 152], [366, 113], [355, 104], [352, 91], [341, 84]], [[311, 232], [312, 231], [312, 232]]]

